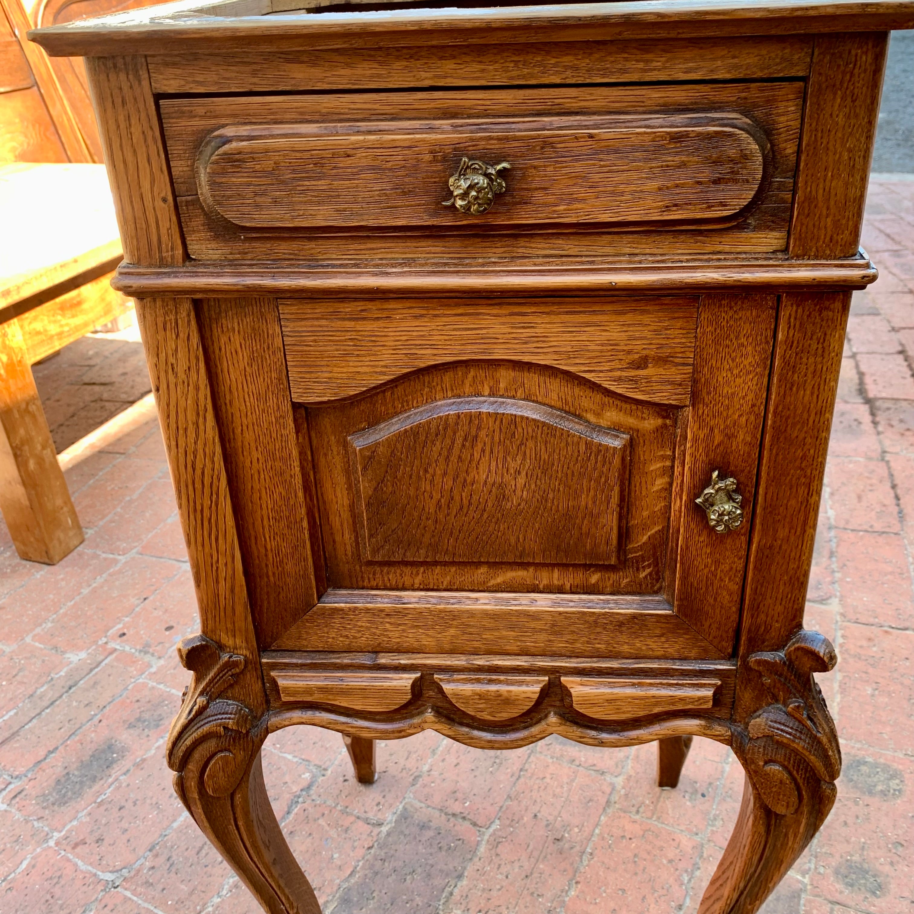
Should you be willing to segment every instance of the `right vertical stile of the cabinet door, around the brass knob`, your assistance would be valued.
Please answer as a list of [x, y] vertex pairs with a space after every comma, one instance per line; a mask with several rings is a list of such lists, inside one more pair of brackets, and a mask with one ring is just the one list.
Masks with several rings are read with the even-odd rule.
[[[726, 654], [742, 600], [775, 305], [771, 295], [707, 295], [698, 312], [674, 606]], [[737, 479], [747, 518], [724, 534], [694, 501], [715, 470]]]

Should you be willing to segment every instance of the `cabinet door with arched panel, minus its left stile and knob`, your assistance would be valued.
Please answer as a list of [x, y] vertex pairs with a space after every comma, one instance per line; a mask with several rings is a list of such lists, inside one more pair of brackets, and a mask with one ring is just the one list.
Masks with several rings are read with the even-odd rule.
[[[280, 302], [326, 591], [276, 648], [730, 654], [775, 300]], [[737, 480], [718, 532], [696, 497]]]

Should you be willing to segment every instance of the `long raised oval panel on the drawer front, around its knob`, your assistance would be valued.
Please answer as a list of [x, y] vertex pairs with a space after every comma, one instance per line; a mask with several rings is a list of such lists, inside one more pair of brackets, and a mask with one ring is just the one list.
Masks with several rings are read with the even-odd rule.
[[[242, 124], [197, 157], [210, 213], [244, 228], [719, 220], [760, 188], [768, 143], [739, 114]], [[510, 161], [498, 206], [441, 206], [463, 156]]]

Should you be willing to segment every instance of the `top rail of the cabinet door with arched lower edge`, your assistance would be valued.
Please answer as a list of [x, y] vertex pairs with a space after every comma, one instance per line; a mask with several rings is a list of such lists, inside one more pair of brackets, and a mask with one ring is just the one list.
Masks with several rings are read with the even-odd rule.
[[419, 368], [473, 358], [549, 365], [635, 399], [691, 397], [696, 299], [281, 299], [292, 399], [348, 397]]

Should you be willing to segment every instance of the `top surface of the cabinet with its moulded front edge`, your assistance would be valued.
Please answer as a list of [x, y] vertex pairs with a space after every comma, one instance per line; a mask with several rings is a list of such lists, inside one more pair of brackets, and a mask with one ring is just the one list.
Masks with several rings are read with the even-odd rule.
[[[623, 0], [413, 8], [415, 0], [179, 0], [28, 37], [52, 56], [623, 38], [813, 34], [914, 27], [914, 0]], [[508, 0], [502, 0], [503, 3]], [[396, 8], [404, 4], [404, 8]], [[381, 8], [378, 8], [381, 7]]]

